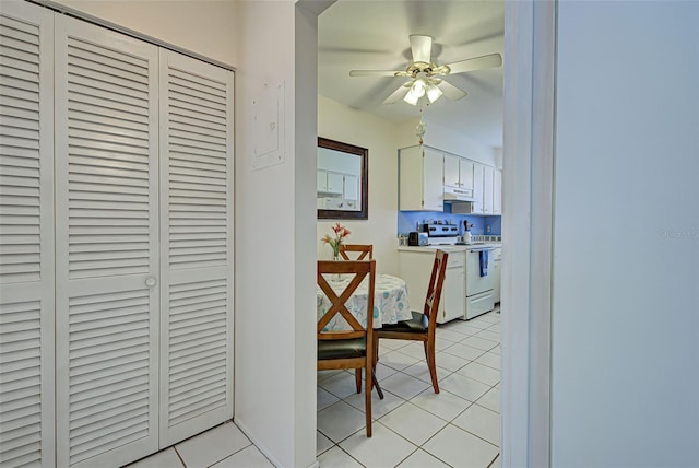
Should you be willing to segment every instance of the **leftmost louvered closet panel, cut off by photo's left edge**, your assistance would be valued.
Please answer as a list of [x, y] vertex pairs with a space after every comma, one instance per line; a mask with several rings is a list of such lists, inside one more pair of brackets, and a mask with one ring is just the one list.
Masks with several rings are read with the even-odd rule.
[[0, 13], [0, 466], [54, 466], [54, 17]]

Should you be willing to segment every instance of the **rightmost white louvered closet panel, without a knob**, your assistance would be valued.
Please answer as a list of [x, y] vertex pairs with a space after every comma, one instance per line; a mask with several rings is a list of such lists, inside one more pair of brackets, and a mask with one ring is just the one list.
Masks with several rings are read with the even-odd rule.
[[233, 72], [161, 50], [161, 446], [233, 417]]

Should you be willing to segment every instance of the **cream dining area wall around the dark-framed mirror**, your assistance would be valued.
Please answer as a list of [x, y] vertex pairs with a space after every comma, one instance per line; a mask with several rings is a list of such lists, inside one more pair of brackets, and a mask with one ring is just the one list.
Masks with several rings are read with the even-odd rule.
[[369, 150], [369, 219], [319, 220], [318, 258], [332, 258], [332, 248], [320, 242], [332, 235], [337, 221], [352, 234], [348, 244], [374, 244], [379, 272], [398, 274], [398, 142], [396, 125], [318, 96], [318, 136]]

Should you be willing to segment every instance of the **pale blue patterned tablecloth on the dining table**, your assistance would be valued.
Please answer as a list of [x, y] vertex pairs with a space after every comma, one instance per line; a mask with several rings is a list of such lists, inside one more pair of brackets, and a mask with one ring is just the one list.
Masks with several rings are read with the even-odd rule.
[[[350, 283], [350, 279], [337, 280], [334, 274], [327, 276], [328, 283], [337, 295]], [[368, 279], [365, 279], [354, 292], [346, 306], [357, 320], [364, 326], [367, 324], [367, 290]], [[330, 300], [325, 294], [316, 289], [316, 305], [318, 319], [330, 308]], [[390, 274], [377, 274], [374, 294], [374, 328], [381, 328], [383, 324], [398, 324], [400, 320], [412, 318], [411, 306], [407, 302], [407, 288], [405, 281]], [[341, 316], [335, 315], [325, 330], [345, 330], [350, 326]]]

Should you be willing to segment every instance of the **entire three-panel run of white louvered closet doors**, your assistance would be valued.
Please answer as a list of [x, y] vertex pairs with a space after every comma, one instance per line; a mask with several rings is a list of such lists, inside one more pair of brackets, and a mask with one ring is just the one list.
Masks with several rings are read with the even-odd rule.
[[233, 73], [8, 7], [0, 465], [122, 466], [233, 416]]

